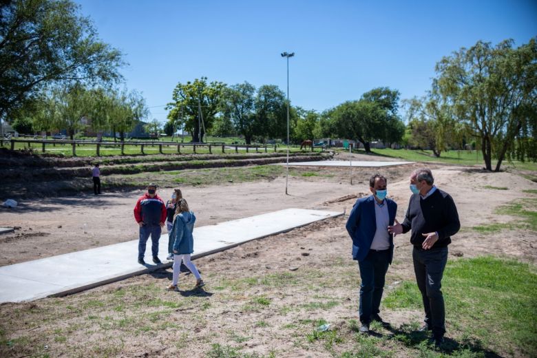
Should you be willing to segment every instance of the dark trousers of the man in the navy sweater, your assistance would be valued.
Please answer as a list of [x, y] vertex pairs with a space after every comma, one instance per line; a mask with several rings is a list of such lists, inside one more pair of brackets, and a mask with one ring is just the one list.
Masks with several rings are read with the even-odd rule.
[[440, 288], [445, 264], [448, 262], [448, 248], [422, 250], [414, 247], [412, 261], [416, 282], [423, 299], [425, 324], [432, 330], [434, 337], [443, 337], [445, 308]]

